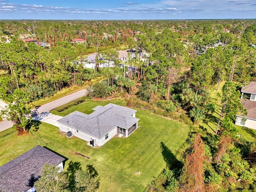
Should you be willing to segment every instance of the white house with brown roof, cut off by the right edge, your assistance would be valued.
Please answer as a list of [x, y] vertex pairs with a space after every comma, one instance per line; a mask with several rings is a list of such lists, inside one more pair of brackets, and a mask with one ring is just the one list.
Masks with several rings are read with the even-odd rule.
[[[236, 125], [256, 130], [256, 82], [242, 87], [241, 103], [247, 109], [246, 116], [236, 116]], [[246, 100], [244, 100], [246, 98]]]

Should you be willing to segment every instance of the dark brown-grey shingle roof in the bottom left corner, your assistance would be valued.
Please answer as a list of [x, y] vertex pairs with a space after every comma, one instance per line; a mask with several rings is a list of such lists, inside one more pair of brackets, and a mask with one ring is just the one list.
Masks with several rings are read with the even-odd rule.
[[58, 165], [64, 160], [38, 145], [0, 167], [0, 191], [26, 192], [40, 177], [45, 164]]

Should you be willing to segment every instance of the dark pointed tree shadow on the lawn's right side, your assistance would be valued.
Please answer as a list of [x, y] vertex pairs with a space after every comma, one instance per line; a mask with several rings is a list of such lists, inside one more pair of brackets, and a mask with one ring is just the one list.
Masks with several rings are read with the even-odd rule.
[[166, 167], [168, 167], [169, 169], [181, 169], [183, 167], [182, 162], [177, 160], [172, 151], [163, 142], [160, 143], [160, 148], [162, 150], [162, 156], [164, 158], [164, 161], [166, 162]]

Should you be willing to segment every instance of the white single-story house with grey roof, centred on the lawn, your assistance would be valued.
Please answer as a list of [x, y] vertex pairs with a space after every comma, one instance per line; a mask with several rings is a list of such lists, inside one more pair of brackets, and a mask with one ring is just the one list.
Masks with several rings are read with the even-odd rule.
[[128, 137], [138, 128], [136, 110], [116, 104], [96, 106], [91, 114], [75, 111], [57, 122], [61, 131], [102, 146], [116, 134]]

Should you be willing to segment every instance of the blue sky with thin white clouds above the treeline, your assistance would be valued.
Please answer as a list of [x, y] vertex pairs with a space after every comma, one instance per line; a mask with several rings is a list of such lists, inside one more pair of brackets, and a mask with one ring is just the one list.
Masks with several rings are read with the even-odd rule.
[[0, 19], [250, 19], [256, 0], [0, 0]]

